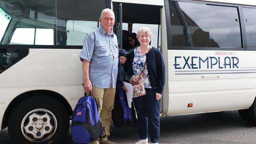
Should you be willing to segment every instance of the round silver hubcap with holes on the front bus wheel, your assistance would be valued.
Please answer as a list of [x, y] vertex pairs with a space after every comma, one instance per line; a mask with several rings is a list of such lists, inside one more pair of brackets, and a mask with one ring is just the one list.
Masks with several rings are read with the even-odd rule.
[[57, 120], [47, 109], [34, 109], [24, 116], [21, 131], [32, 142], [43, 142], [56, 132]]

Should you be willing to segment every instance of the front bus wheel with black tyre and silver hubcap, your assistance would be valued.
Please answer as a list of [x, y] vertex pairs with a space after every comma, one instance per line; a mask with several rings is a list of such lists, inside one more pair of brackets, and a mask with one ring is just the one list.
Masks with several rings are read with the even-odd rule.
[[65, 107], [47, 96], [21, 102], [12, 111], [8, 133], [17, 144], [54, 144], [67, 137], [69, 116]]

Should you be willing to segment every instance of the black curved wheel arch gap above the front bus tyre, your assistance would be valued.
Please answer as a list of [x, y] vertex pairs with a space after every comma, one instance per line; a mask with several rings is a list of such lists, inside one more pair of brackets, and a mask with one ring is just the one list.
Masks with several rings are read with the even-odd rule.
[[72, 115], [72, 108], [71, 108], [69, 102], [67, 102], [67, 100], [61, 94], [54, 92], [54, 91], [50, 91], [50, 90], [32, 90], [32, 91], [28, 91], [28, 92], [24, 92], [24, 93], [20, 94], [19, 96], [17, 96], [16, 98], [14, 98], [11, 101], [11, 103], [8, 105], [6, 111], [4, 112], [1, 130], [5, 129], [7, 127], [8, 120], [9, 120], [9, 117], [10, 117], [13, 109], [20, 102], [27, 100], [28, 98], [31, 98], [33, 96], [46, 96], [48, 98], [54, 98], [58, 102], [61, 102], [61, 104], [65, 107], [69, 116]]

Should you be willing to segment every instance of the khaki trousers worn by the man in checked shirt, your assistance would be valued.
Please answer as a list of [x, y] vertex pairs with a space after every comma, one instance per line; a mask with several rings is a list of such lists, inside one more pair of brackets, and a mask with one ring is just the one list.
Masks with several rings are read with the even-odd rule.
[[[110, 123], [112, 121], [111, 110], [114, 107], [115, 88], [112, 86], [110, 88], [100, 88], [93, 86], [91, 96], [93, 96], [97, 102], [100, 122], [102, 123], [102, 126], [105, 127], [106, 137], [102, 138], [102, 142], [105, 142], [108, 140], [110, 135]], [[102, 134], [102, 137], [103, 136], [104, 134]], [[99, 144], [99, 139], [89, 144]]]

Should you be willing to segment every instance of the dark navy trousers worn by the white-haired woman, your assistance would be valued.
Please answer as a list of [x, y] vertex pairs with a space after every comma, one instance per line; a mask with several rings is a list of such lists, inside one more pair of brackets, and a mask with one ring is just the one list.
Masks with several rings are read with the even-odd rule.
[[161, 101], [156, 100], [156, 89], [145, 88], [146, 95], [134, 98], [134, 106], [137, 111], [137, 129], [140, 139], [148, 137], [153, 143], [158, 142], [160, 134], [160, 105]]

